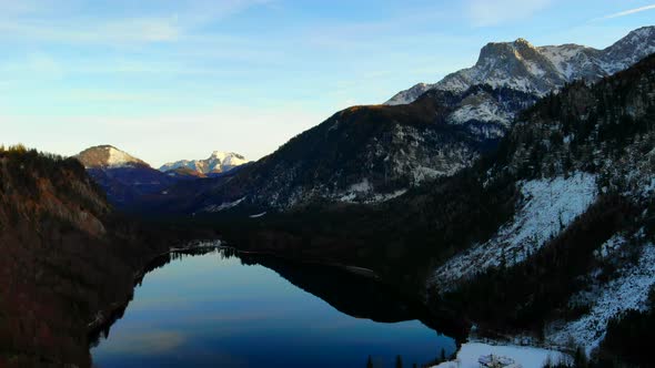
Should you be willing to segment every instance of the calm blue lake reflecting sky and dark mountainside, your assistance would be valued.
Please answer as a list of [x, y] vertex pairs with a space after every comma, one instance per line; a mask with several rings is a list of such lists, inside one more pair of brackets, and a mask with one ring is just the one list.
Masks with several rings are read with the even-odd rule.
[[148, 273], [97, 367], [419, 367], [455, 351], [420, 303], [343, 268], [213, 249]]

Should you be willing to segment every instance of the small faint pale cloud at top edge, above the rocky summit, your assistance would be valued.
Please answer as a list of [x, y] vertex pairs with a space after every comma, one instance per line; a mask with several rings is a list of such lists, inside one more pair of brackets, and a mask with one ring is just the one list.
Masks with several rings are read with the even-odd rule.
[[491, 27], [524, 20], [551, 3], [552, 0], [471, 0], [467, 13], [473, 25]]

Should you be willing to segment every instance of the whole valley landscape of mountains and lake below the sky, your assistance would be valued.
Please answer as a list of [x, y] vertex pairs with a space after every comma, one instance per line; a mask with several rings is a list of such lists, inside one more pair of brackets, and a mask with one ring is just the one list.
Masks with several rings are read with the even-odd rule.
[[647, 367], [654, 129], [644, 27], [488, 43], [252, 162], [2, 146], [0, 366]]

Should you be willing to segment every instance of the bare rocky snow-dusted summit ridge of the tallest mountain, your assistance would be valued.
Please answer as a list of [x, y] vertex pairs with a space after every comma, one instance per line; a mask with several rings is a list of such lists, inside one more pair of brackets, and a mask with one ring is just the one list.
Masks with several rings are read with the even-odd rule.
[[411, 103], [430, 90], [462, 92], [476, 84], [543, 96], [575, 80], [593, 82], [612, 75], [653, 52], [655, 27], [634, 30], [603, 50], [577, 44], [534, 47], [524, 39], [492, 42], [482, 49], [472, 68], [449, 74], [434, 84], [416, 84], [399, 92], [385, 104]]

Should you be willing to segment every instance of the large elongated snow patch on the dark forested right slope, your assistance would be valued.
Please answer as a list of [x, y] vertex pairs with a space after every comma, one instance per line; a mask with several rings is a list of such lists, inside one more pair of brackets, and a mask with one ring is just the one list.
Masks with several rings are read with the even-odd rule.
[[429, 284], [447, 290], [458, 280], [503, 262], [521, 263], [584, 213], [597, 195], [596, 175], [541, 178], [521, 184], [523, 203], [513, 221], [488, 242], [454, 256], [436, 269]]

